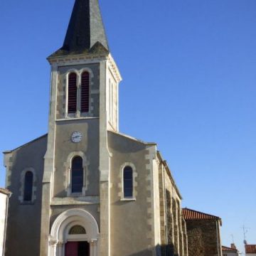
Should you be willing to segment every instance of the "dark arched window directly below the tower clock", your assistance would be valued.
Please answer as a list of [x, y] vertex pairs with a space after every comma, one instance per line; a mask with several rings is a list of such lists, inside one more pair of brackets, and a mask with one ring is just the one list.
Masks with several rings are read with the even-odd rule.
[[82, 167], [82, 157], [80, 156], [75, 156], [72, 160], [71, 184], [72, 184], [72, 193], [82, 193], [83, 167]]

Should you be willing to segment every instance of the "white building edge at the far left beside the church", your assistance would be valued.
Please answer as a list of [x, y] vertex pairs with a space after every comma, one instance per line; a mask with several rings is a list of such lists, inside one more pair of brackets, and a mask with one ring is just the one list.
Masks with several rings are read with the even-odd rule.
[[11, 192], [0, 188], [0, 256], [4, 256], [8, 202]]

